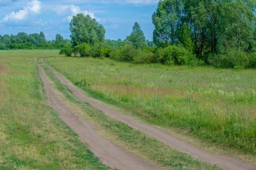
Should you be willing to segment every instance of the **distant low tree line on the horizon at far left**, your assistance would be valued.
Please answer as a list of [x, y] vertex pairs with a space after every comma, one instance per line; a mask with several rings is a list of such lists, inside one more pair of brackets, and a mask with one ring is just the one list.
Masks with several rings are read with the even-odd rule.
[[26, 34], [19, 32], [17, 35], [0, 35], [0, 49], [60, 49], [64, 44], [70, 44], [67, 40], [57, 34], [55, 40], [47, 41], [44, 32]]

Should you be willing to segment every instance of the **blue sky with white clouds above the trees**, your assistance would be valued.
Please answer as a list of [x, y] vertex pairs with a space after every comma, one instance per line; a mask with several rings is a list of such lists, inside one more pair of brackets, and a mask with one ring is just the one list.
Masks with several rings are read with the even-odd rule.
[[106, 29], [107, 39], [122, 39], [138, 22], [152, 40], [151, 15], [158, 0], [0, 0], [0, 35], [43, 31], [47, 40], [56, 34], [69, 38], [69, 22], [77, 13], [89, 14]]

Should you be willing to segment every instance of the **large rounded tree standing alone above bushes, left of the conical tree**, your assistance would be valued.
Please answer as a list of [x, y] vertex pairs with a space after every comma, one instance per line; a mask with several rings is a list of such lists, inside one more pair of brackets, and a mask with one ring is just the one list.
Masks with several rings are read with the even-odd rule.
[[81, 13], [71, 19], [70, 32], [73, 46], [77, 46], [83, 43], [92, 44], [96, 40], [104, 42], [106, 31], [95, 18], [92, 19], [89, 15], [85, 16]]

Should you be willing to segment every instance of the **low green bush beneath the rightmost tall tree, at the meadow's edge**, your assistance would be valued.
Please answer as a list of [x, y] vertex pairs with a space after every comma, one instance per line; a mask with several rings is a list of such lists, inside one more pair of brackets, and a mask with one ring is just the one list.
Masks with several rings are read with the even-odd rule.
[[229, 49], [225, 54], [209, 55], [208, 62], [217, 68], [244, 69], [250, 66], [250, 55], [243, 51]]

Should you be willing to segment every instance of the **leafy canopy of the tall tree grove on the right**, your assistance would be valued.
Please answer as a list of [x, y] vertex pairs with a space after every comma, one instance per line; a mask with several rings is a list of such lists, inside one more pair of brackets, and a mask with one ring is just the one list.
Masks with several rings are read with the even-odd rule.
[[161, 0], [152, 15], [154, 43], [184, 44], [190, 37], [200, 56], [255, 50], [255, 8], [254, 0]]

